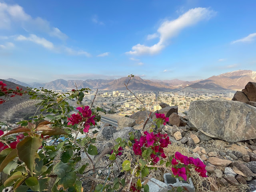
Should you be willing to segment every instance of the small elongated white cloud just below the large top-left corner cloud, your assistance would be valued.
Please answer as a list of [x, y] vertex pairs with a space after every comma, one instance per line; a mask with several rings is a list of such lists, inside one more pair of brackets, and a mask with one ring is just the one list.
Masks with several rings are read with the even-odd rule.
[[34, 42], [36, 44], [39, 44], [41, 46], [43, 46], [44, 48], [53, 50], [54, 49], [54, 45], [52, 42], [46, 40], [45, 38], [40, 38], [34, 34], [30, 34], [28, 37], [25, 37], [23, 35], [19, 35], [16, 38], [17, 41], [31, 41]]

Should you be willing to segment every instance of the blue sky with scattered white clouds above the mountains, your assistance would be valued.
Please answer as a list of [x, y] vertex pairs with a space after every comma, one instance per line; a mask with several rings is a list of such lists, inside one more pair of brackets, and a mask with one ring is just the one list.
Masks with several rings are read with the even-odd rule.
[[0, 79], [256, 71], [255, 0], [0, 0]]

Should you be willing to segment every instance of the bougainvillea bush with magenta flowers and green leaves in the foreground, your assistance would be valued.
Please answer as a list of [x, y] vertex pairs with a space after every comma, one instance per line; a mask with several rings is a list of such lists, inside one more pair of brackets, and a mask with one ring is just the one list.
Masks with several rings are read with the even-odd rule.
[[[143, 188], [148, 192], [149, 187], [143, 181], [150, 180], [149, 170], [158, 167], [173, 172], [181, 180], [188, 180], [192, 167], [200, 176], [206, 177], [205, 166], [199, 159], [188, 158], [179, 152], [174, 158], [166, 157], [164, 148], [171, 142], [167, 134], [156, 132], [156, 128], [168, 122], [164, 114], [156, 114], [152, 128], [143, 130], [139, 138], [134, 138], [133, 133], [128, 140], [117, 138], [110, 154], [106, 154], [109, 163], [102, 168], [91, 158], [98, 155], [98, 150], [96, 138], [90, 138], [88, 132], [100, 121], [99, 112], [103, 110], [81, 105], [87, 88], [59, 94], [44, 88], [28, 89], [26, 93], [19, 88], [7, 90], [3, 83], [0, 86], [0, 94], [5, 97], [29, 94], [31, 99], [38, 100], [38, 107], [42, 107], [40, 111], [46, 112], [32, 117], [33, 120], [19, 122], [16, 128], [0, 124], [5, 125], [0, 130], [0, 171], [8, 175], [2, 181], [0, 191], [11, 186], [14, 192], [28, 189], [81, 192], [82, 181], [91, 180], [90, 191], [138, 192]], [[80, 104], [76, 113], [67, 102], [74, 99]], [[78, 134], [84, 137], [78, 139]], [[117, 159], [128, 148], [133, 150], [133, 158], [124, 160], [120, 164], [120, 176], [114, 177], [114, 164], [118, 164]], [[90, 163], [77, 166], [83, 152]], [[99, 170], [107, 170], [108, 174], [99, 176]]]

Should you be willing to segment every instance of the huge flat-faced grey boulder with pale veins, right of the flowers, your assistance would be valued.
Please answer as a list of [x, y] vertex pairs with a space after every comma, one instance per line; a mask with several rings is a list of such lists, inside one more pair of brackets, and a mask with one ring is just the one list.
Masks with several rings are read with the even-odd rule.
[[204, 134], [237, 142], [256, 138], [256, 108], [224, 99], [193, 101], [190, 122]]

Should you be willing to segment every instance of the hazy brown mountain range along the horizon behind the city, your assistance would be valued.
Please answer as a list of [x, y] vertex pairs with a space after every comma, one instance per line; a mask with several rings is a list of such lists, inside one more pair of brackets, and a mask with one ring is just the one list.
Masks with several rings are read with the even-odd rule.
[[[9, 78], [7, 81], [29, 86], [33, 88], [44, 87], [47, 89], [73, 89], [90, 88], [99, 90], [126, 90], [124, 85], [128, 77], [122, 77], [116, 80], [88, 79], [88, 80], [63, 80], [57, 79], [48, 83], [31, 83], [26, 84], [18, 80]], [[242, 90], [249, 82], [256, 82], [256, 72], [252, 70], [238, 70], [227, 72], [218, 76], [212, 76], [204, 80], [184, 81], [179, 79], [173, 80], [145, 80], [134, 76], [129, 84], [130, 90], [186, 90], [187, 92], [228, 92], [229, 90]]]

